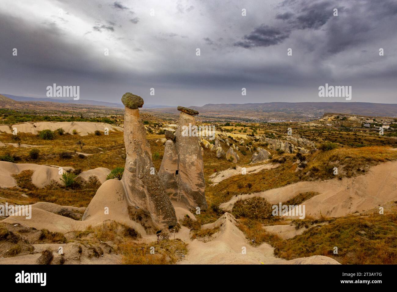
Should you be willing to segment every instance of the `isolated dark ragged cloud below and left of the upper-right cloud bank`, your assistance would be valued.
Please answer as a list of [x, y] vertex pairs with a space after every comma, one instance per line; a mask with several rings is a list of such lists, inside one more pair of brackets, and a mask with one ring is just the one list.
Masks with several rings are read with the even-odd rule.
[[276, 27], [269, 27], [268, 25], [262, 24], [254, 29], [248, 35], [243, 37], [243, 41], [235, 42], [235, 46], [243, 48], [253, 47], [267, 47], [279, 44], [289, 37], [289, 30], [281, 30]]

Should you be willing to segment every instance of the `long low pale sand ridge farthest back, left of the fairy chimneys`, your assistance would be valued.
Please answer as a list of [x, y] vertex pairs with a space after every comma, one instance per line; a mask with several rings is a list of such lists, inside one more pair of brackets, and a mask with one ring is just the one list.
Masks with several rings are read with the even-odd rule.
[[[77, 131], [80, 136], [86, 136], [94, 133], [96, 130], [105, 131], [108, 128], [109, 131], [123, 131], [122, 127], [113, 126], [107, 123], [94, 123], [94, 122], [26, 122], [12, 125], [12, 128], [17, 128], [18, 132], [37, 134], [42, 130], [55, 131], [56, 129], [62, 128], [66, 133], [73, 134], [73, 130]], [[11, 133], [10, 127], [1, 126], [1, 132]]]

